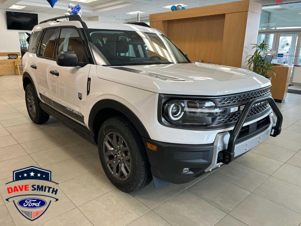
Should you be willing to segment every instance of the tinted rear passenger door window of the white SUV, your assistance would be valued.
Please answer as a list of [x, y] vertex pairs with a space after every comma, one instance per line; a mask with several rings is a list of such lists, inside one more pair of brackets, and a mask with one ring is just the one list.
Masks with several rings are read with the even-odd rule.
[[45, 31], [40, 45], [40, 56], [55, 59], [57, 49], [55, 45], [55, 38], [58, 30], [58, 28], [55, 28]]

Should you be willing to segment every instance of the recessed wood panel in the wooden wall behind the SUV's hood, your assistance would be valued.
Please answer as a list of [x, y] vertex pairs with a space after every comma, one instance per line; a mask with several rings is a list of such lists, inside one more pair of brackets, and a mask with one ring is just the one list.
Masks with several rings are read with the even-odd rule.
[[219, 64], [225, 15], [168, 21], [168, 37], [191, 61]]

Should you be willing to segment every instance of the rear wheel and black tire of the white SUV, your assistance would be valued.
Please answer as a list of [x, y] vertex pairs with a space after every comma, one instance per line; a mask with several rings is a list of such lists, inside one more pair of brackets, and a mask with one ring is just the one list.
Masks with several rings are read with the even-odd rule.
[[31, 121], [36, 124], [42, 124], [48, 121], [50, 115], [43, 111], [40, 107], [40, 100], [36, 95], [36, 90], [33, 87], [33, 84], [31, 83], [29, 83], [25, 89], [25, 102]]

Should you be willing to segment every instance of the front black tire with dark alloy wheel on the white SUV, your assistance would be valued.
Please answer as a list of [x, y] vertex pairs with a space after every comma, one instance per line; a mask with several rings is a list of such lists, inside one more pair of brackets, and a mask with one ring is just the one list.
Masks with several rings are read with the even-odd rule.
[[[108, 146], [110, 149], [113, 147], [113, 155]], [[109, 118], [101, 125], [98, 133], [98, 153], [105, 174], [119, 190], [134, 192], [151, 182], [150, 164], [141, 137], [126, 118]], [[119, 173], [113, 173], [116, 171]]]

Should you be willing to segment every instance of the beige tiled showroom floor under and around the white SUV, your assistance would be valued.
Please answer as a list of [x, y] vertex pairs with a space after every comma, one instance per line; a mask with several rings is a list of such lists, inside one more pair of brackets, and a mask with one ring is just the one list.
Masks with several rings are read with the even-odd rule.
[[[301, 222], [301, 95], [278, 104], [283, 132], [211, 174], [126, 194], [104, 175], [97, 147], [54, 118], [27, 115], [20, 76], [0, 77], [0, 225], [298, 226]], [[26, 166], [52, 171], [59, 201], [35, 221], [7, 202], [5, 183]]]

